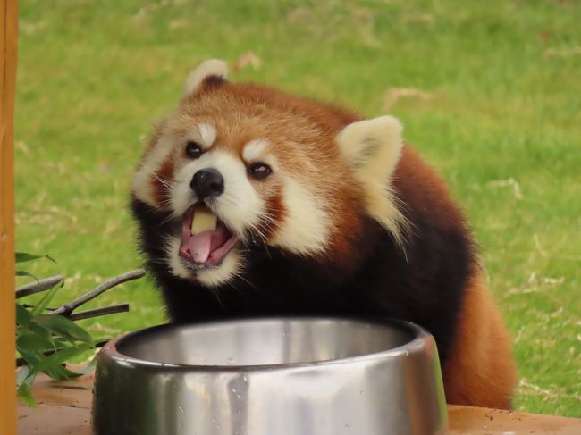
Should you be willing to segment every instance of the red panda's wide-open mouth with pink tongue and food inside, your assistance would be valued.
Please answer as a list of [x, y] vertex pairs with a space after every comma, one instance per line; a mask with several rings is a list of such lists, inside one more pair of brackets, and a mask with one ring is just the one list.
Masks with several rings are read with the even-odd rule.
[[206, 205], [196, 204], [183, 214], [180, 256], [196, 266], [214, 266], [236, 245], [238, 238]]

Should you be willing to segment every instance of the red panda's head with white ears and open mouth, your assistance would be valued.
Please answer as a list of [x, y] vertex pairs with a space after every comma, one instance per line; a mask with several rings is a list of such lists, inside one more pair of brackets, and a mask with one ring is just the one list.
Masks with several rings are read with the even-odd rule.
[[[348, 261], [364, 213], [398, 233], [388, 186], [400, 153], [397, 121], [352, 122], [224, 76], [219, 61], [190, 74], [133, 180], [134, 197], [175, 221], [164, 258], [174, 275], [220, 285], [244, 272], [250, 249], [269, 247]], [[393, 142], [386, 126], [396, 130], [395, 146], [383, 145]], [[378, 131], [386, 138], [375, 138]], [[380, 155], [392, 162], [373, 163]]]

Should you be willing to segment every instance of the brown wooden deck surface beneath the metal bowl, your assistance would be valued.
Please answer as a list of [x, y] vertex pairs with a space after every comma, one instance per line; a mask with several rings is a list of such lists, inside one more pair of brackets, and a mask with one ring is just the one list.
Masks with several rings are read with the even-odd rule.
[[[92, 388], [92, 374], [58, 383], [39, 377], [33, 390], [40, 405], [19, 405], [18, 433], [90, 435]], [[455, 405], [448, 406], [448, 415], [450, 435], [581, 435], [577, 418]]]

